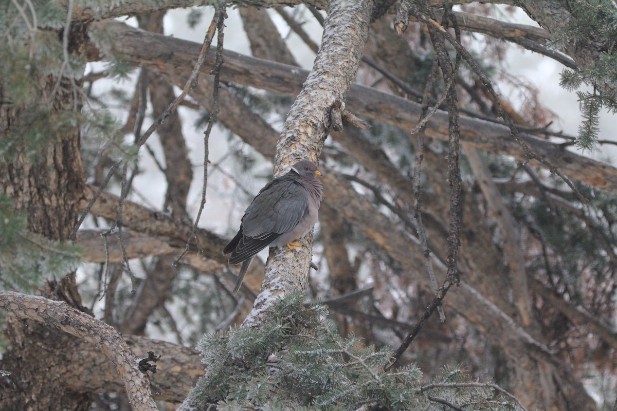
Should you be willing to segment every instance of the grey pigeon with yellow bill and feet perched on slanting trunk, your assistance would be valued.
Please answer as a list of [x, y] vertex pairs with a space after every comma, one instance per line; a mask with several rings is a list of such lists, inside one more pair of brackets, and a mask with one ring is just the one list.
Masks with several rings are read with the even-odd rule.
[[223, 254], [231, 253], [230, 264], [242, 262], [234, 294], [255, 254], [263, 248], [286, 245], [292, 250], [302, 246], [296, 240], [309, 234], [321, 204], [323, 186], [315, 176], [321, 173], [312, 161], [298, 161], [289, 173], [263, 187], [244, 211], [238, 234], [223, 249]]

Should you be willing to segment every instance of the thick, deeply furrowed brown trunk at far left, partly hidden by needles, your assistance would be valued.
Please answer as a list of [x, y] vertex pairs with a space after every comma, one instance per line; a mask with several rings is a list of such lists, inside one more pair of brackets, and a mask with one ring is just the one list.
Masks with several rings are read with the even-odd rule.
[[[61, 35], [61, 34], [60, 34]], [[73, 25], [68, 51], [83, 54], [86, 27]], [[49, 100], [57, 78], [41, 78], [41, 99]], [[78, 90], [73, 90], [78, 87]], [[75, 92], [74, 92], [75, 91]], [[4, 139], [12, 129], [19, 127], [22, 107], [15, 107], [5, 96], [0, 82], [0, 137]], [[63, 77], [60, 79], [49, 115], [81, 110], [81, 84]], [[28, 218], [32, 232], [50, 240], [68, 240], [78, 217], [78, 201], [83, 195], [85, 178], [80, 154], [80, 128], [54, 136], [53, 144], [40, 150], [35, 162], [19, 155], [14, 160], [0, 163], [1, 192], [12, 198], [15, 209]], [[49, 282], [42, 290], [51, 296], [56, 288]], [[58, 298], [82, 309], [75, 284], [75, 272], [60, 280]], [[49, 329], [33, 321], [9, 320], [6, 329], [9, 341], [7, 352], [0, 362], [0, 370], [10, 373], [0, 380], [0, 410], [88, 410], [91, 394], [76, 393], [65, 378], [70, 368], [72, 347], [79, 346], [77, 338], [59, 330]]]

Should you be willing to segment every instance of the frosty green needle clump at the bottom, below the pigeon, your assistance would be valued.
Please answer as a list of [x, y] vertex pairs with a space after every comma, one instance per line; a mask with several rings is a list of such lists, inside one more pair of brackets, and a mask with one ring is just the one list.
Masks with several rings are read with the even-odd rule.
[[[199, 344], [205, 376], [193, 397], [218, 410], [515, 410], [490, 386], [471, 383], [447, 368], [424, 386], [415, 365], [384, 371], [389, 348], [341, 338], [326, 307], [302, 304], [294, 294], [279, 301], [259, 328], [231, 328]], [[446, 407], [447, 408], [447, 407]]]

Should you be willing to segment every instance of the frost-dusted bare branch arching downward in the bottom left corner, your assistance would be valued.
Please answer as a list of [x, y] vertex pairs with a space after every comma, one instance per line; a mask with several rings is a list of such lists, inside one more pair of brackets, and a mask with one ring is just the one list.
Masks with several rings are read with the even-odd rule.
[[42, 322], [94, 344], [114, 363], [124, 381], [133, 410], [157, 410], [148, 378], [138, 368], [138, 357], [113, 327], [68, 306], [64, 301], [20, 293], [0, 292], [0, 308], [9, 318]]

